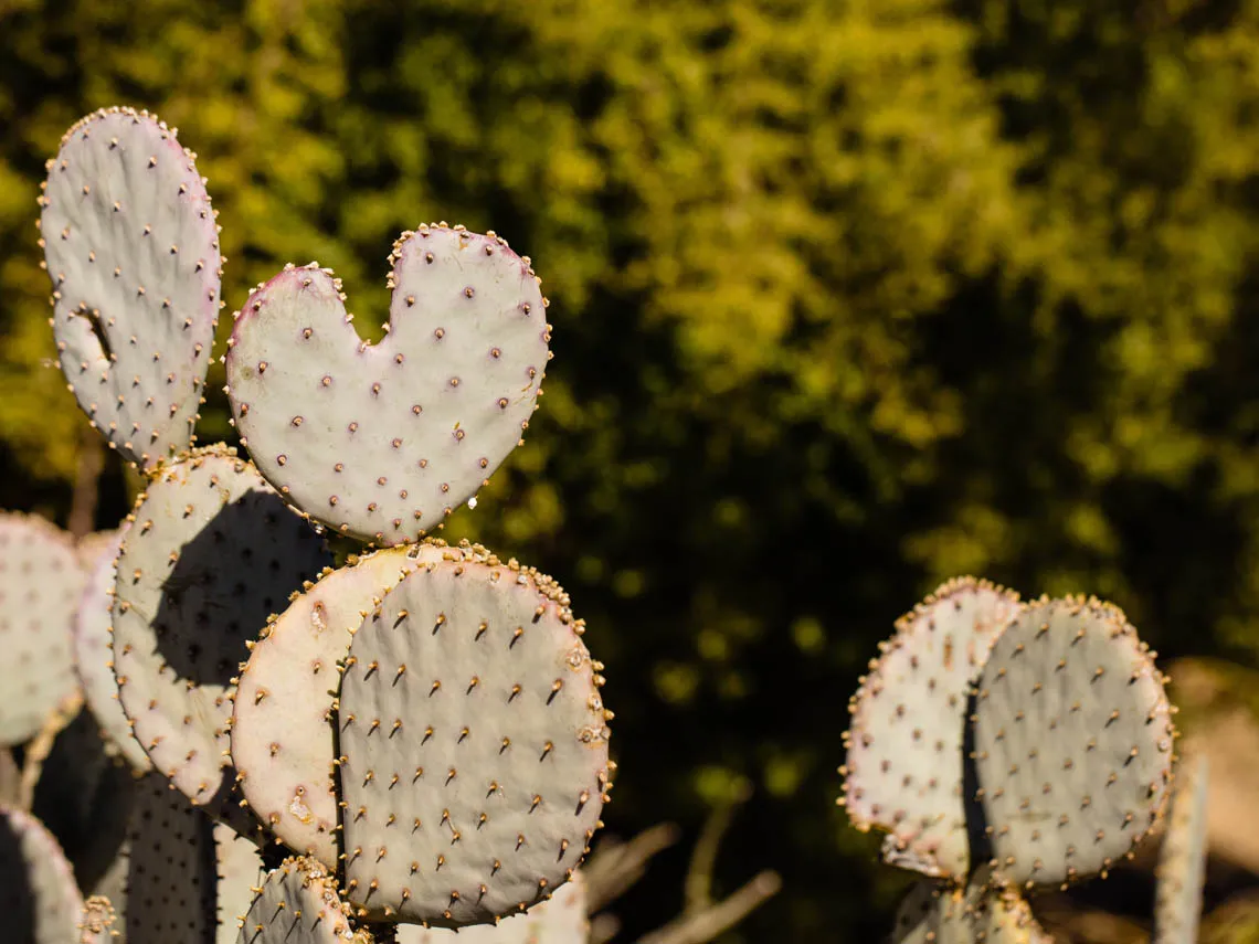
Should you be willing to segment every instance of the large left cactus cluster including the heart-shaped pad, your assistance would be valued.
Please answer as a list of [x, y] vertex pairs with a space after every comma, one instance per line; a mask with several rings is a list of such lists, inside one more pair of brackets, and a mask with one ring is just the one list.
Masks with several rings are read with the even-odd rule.
[[582, 940], [603, 667], [549, 576], [426, 537], [536, 409], [529, 258], [404, 233], [375, 345], [286, 267], [223, 357], [246, 456], [194, 447], [223, 259], [175, 130], [89, 115], [39, 204], [60, 368], [146, 482], [82, 546], [0, 519], [9, 939]]

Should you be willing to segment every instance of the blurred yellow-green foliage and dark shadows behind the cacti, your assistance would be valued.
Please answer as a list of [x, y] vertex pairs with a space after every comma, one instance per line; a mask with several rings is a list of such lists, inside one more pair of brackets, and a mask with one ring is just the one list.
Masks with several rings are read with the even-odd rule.
[[[0, 505], [77, 529], [136, 482], [50, 366], [35, 198], [108, 104], [198, 152], [224, 315], [317, 259], [375, 330], [427, 220], [533, 257], [543, 409], [446, 536], [589, 623], [611, 832], [694, 838], [753, 788], [718, 886], [784, 889], [729, 940], [888, 928], [905, 882], [835, 806], [841, 733], [954, 574], [1122, 605], [1253, 814], [1259, 0], [0, 0]], [[222, 378], [203, 442], [234, 441]], [[1259, 870], [1231, 826], [1230, 915]], [[685, 846], [626, 939], [680, 906]], [[1049, 900], [1063, 939], [1139, 939], [1142, 868]]]

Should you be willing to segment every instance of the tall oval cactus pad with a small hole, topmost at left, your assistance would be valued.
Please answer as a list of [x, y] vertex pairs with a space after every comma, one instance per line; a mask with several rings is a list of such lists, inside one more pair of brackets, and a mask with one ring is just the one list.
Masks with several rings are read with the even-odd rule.
[[191, 443], [219, 313], [194, 155], [147, 112], [98, 111], [65, 132], [39, 203], [62, 371], [110, 446], [150, 468]]

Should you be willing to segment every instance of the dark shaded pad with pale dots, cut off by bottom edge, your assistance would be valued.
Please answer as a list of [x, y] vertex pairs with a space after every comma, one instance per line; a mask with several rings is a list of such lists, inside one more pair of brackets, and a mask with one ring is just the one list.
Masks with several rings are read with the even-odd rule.
[[136, 790], [127, 834], [127, 944], [203, 941], [215, 934], [214, 823], [157, 772]]

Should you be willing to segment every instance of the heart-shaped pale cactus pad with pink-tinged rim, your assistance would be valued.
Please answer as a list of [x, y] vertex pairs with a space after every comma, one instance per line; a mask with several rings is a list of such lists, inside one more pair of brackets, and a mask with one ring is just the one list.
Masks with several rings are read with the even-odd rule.
[[520, 441], [550, 356], [528, 259], [462, 227], [404, 233], [389, 335], [364, 344], [341, 286], [286, 268], [237, 315], [224, 357], [242, 442], [297, 509], [366, 541], [414, 541]]

